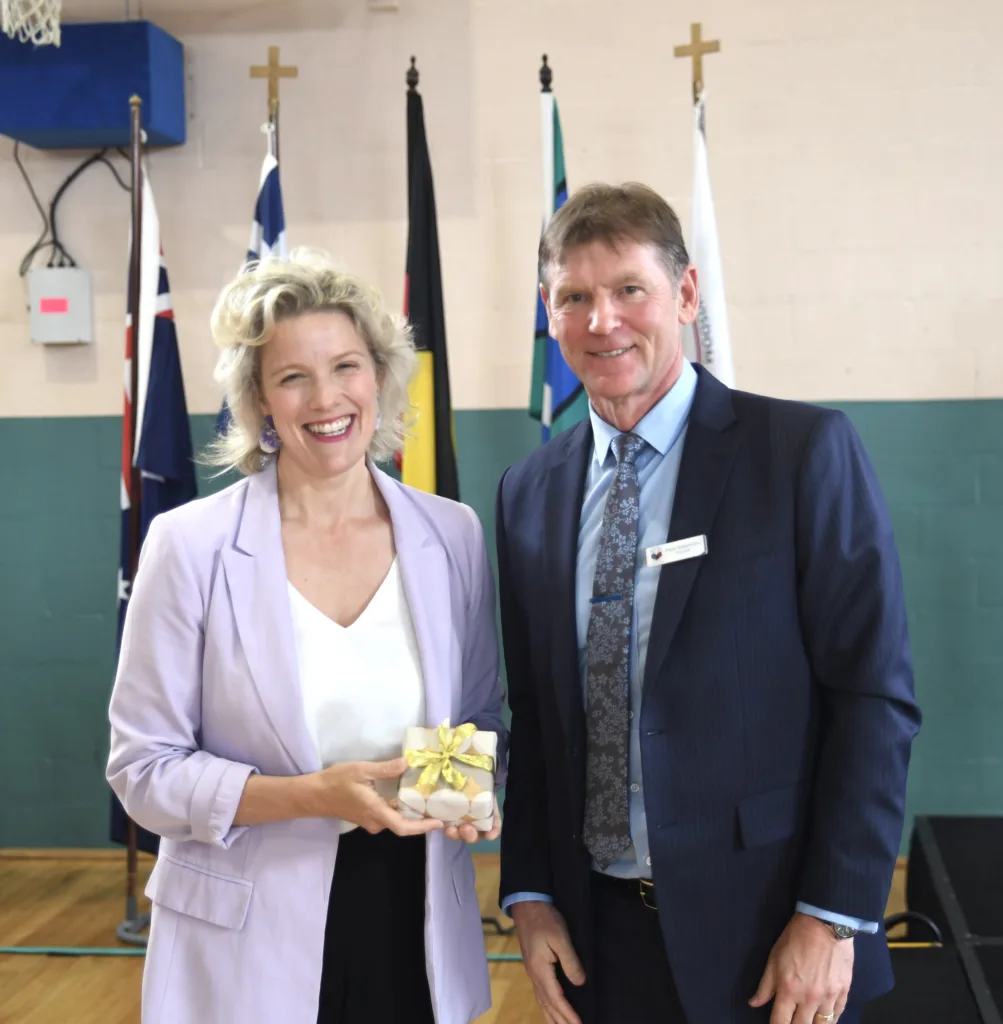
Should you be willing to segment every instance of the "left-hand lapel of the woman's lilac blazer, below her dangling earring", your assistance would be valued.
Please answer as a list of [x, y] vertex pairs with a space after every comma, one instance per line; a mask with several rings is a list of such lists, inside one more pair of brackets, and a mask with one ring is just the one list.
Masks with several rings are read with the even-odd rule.
[[223, 551], [222, 563], [237, 632], [264, 712], [299, 771], [318, 771], [321, 763], [299, 688], [274, 463], [248, 480], [237, 537]]

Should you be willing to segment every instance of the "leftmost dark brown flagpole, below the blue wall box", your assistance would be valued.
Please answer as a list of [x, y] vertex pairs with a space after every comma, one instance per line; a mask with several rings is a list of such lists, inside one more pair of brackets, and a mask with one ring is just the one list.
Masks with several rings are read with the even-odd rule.
[[[139, 565], [139, 532], [141, 519], [140, 501], [142, 479], [136, 465], [136, 437], [138, 436], [139, 407], [139, 280], [142, 252], [142, 100], [139, 96], [129, 99], [130, 143], [132, 155], [132, 246], [129, 254], [129, 594]], [[126, 884], [125, 922], [119, 928], [119, 938], [136, 944], [145, 944], [144, 937], [133, 930], [139, 919], [136, 901], [136, 876], [138, 873], [138, 835], [136, 823], [126, 813]]]

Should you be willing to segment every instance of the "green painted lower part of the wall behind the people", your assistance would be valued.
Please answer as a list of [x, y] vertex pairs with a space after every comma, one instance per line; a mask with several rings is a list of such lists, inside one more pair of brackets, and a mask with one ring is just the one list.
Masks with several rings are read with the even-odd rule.
[[[911, 812], [1003, 814], [1003, 401], [842, 408], [902, 553], [926, 716]], [[212, 422], [194, 419], [197, 444]], [[0, 847], [107, 845], [119, 429], [0, 420]], [[456, 436], [491, 538], [497, 481], [538, 428], [520, 410], [460, 411]]]

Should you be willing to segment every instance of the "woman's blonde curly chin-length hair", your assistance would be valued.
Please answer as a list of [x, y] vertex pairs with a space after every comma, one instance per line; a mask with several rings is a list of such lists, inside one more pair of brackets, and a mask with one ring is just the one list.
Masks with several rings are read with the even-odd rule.
[[226, 396], [231, 421], [203, 462], [247, 475], [264, 468], [261, 347], [280, 322], [324, 311], [351, 321], [376, 367], [380, 425], [370, 457], [391, 459], [403, 445], [412, 414], [408, 385], [418, 365], [410, 326], [387, 311], [376, 289], [339, 269], [327, 253], [295, 249], [288, 259], [248, 263], [216, 300], [210, 327], [220, 353], [213, 377]]

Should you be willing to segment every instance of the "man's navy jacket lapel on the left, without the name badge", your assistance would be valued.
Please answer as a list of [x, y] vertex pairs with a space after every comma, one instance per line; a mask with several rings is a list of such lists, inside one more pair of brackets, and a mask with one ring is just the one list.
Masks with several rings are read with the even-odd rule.
[[[546, 481], [544, 504], [545, 580], [553, 623], [551, 671], [561, 724], [569, 750], [580, 750], [584, 758], [585, 708], [578, 665], [576, 579], [578, 530], [585, 493], [588, 460], [592, 453], [592, 430], [588, 420], [571, 431]], [[572, 758], [575, 761], [575, 758]]]

